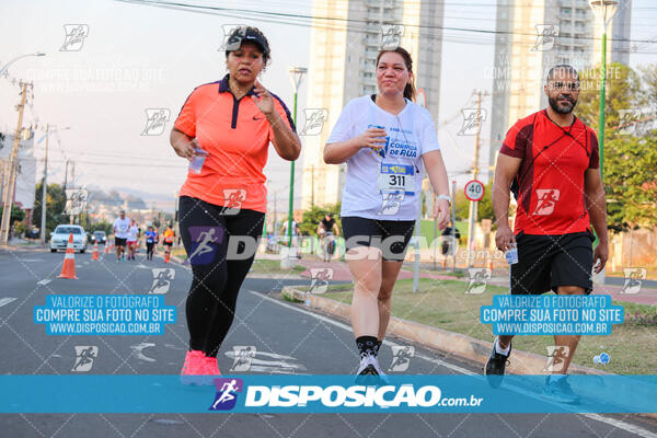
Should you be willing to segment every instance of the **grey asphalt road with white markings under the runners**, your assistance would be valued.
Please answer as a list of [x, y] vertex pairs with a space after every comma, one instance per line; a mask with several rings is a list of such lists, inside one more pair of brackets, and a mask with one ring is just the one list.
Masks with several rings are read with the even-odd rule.
[[[0, 372], [4, 374], [72, 374], [76, 346], [97, 347], [89, 372], [100, 374], [177, 374], [187, 347], [186, 267], [161, 258], [116, 263], [112, 254], [92, 262], [76, 254], [79, 279], [56, 279], [64, 254], [0, 250]], [[164, 293], [178, 320], [158, 336], [49, 336], [33, 322], [33, 308], [47, 295], [148, 293], [152, 268], [174, 268]], [[165, 281], [166, 283], [166, 281]], [[255, 354], [247, 372], [353, 373], [358, 358], [350, 330], [343, 321], [318, 315], [280, 301], [285, 284], [303, 280], [247, 279], [235, 322], [221, 348], [219, 368], [235, 364], [233, 347]], [[166, 289], [166, 286], [158, 286]], [[162, 291], [160, 289], [159, 291]], [[391, 338], [380, 362], [392, 362]], [[407, 373], [479, 373], [465, 364], [413, 345]], [[237, 371], [232, 371], [237, 372]], [[244, 371], [240, 372], [244, 373]], [[1, 389], [0, 389], [1, 390]], [[66, 389], [62, 389], [66, 391]], [[635, 416], [576, 414], [20, 414], [0, 415], [0, 437], [657, 437], [657, 426]]]

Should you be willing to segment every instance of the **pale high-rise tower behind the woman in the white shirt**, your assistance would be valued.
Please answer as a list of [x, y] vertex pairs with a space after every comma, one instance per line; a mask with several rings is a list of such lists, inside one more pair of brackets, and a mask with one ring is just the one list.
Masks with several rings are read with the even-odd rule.
[[440, 99], [442, 0], [315, 0], [312, 14], [304, 115], [323, 120], [323, 128], [307, 129], [300, 117], [302, 208], [342, 198], [346, 168], [324, 163], [324, 145], [347, 102], [377, 93], [374, 64], [382, 45], [411, 53], [416, 87], [424, 89], [434, 119]]

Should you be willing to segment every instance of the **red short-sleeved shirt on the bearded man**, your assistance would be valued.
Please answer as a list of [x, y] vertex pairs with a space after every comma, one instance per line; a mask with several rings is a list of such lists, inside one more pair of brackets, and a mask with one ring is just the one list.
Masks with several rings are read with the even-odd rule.
[[545, 110], [518, 120], [499, 153], [522, 159], [514, 233], [568, 234], [589, 230], [584, 175], [599, 168], [596, 132], [575, 117], [561, 127]]

